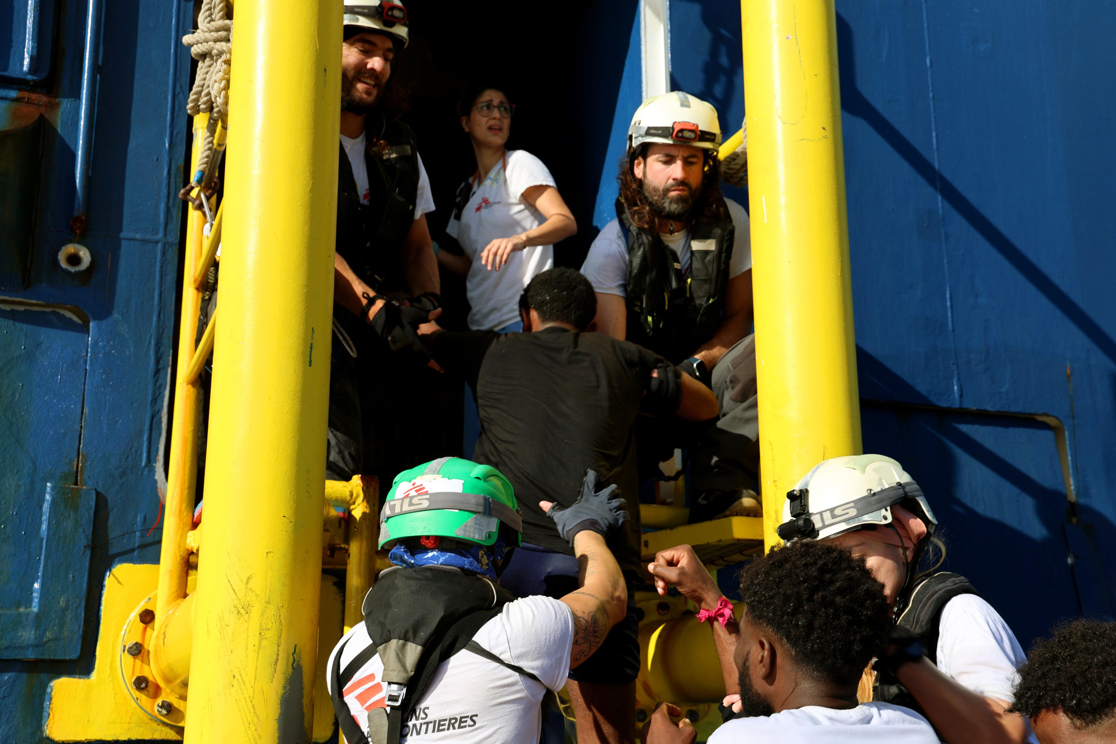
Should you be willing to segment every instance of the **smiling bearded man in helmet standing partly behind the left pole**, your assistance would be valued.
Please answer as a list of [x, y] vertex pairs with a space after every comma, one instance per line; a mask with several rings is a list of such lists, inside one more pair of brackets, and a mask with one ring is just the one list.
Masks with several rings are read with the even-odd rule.
[[[386, 355], [414, 346], [415, 336], [402, 320], [408, 312], [425, 318], [436, 309], [440, 288], [425, 216], [434, 210], [430, 180], [414, 133], [397, 118], [388, 95], [392, 62], [407, 45], [406, 10], [398, 1], [345, 0], [344, 25], [334, 254], [338, 339], [330, 367], [326, 477], [347, 481], [364, 472], [383, 476], [378, 471], [398, 457], [425, 454], [406, 451], [422, 446], [413, 436], [373, 428], [371, 413], [374, 408], [377, 418], [386, 418], [401, 400], [413, 404], [415, 413], [421, 394], [400, 388], [422, 375], [425, 361], [410, 352], [403, 354], [411, 358]], [[376, 462], [365, 462], [366, 450]]]

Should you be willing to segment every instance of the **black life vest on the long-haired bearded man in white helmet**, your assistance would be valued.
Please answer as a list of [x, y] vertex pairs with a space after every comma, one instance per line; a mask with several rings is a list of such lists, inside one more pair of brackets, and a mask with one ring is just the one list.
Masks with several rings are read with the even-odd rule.
[[616, 216], [627, 238], [627, 340], [673, 363], [693, 354], [713, 338], [721, 323], [735, 226], [721, 202], [719, 222], [690, 225], [690, 277], [658, 233], [632, 224], [624, 201], [616, 200]]

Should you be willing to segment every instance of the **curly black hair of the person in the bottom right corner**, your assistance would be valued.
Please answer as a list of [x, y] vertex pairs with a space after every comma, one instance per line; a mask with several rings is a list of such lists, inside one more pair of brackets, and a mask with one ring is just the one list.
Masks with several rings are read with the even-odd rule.
[[1036, 640], [1013, 697], [1011, 713], [1061, 711], [1076, 728], [1116, 716], [1116, 622], [1074, 620]]

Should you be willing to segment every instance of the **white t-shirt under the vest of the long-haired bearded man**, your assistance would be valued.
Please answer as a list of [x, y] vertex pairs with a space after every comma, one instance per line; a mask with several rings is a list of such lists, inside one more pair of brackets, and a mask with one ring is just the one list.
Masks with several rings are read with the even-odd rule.
[[[732, 241], [732, 259], [729, 261], [729, 277], [739, 277], [752, 268], [752, 236], [748, 213], [731, 199], [724, 200], [735, 233]], [[690, 231], [680, 230], [673, 235], [658, 233], [668, 248], [673, 248], [682, 263], [682, 273], [690, 276]], [[581, 264], [581, 273], [602, 294], [627, 297], [628, 249], [620, 230], [619, 220], [605, 225], [589, 247], [589, 254]]]

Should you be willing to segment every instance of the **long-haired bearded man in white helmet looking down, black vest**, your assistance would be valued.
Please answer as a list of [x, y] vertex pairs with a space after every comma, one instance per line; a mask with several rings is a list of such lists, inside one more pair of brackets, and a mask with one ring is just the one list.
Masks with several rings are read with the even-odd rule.
[[665, 357], [709, 386], [712, 425], [639, 429], [644, 480], [689, 450], [690, 521], [756, 514], [756, 348], [748, 214], [718, 184], [716, 110], [682, 91], [648, 98], [628, 129], [616, 220], [581, 267], [597, 330]]

